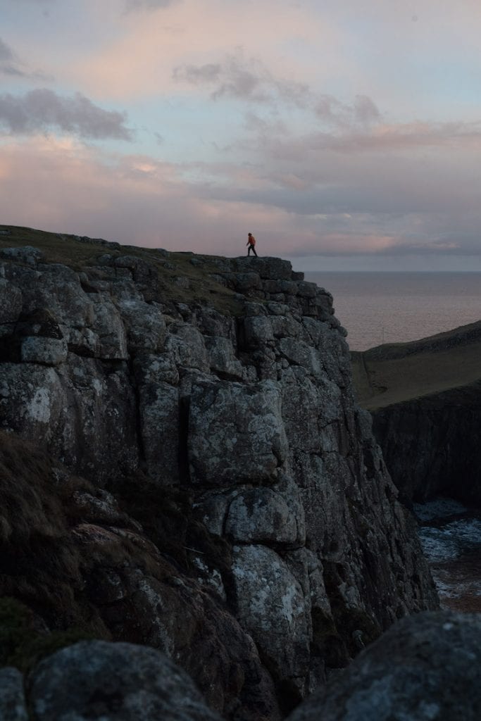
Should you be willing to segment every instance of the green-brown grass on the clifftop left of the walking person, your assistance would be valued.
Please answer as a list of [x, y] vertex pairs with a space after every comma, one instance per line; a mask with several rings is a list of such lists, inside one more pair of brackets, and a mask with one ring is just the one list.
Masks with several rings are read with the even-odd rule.
[[[242, 311], [236, 294], [211, 278], [211, 274], [219, 273], [216, 256], [169, 252], [167, 257], [164, 257], [162, 251], [155, 248], [117, 246], [115, 243], [104, 245], [100, 244], [98, 239], [0, 225], [0, 250], [25, 245], [40, 249], [46, 262], [68, 265], [79, 272], [97, 265], [102, 255], [135, 256], [156, 267], [162, 296], [160, 301], [187, 304], [198, 302], [232, 315], [239, 315]], [[191, 262], [193, 258], [195, 265]], [[178, 278], [186, 278], [188, 287], [179, 285]]]

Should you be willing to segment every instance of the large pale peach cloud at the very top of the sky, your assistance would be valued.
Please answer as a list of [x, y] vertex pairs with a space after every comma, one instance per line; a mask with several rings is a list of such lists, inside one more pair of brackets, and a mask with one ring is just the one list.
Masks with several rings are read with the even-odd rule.
[[[102, 6], [96, 10], [107, 22]], [[273, 19], [275, 18], [275, 22]], [[220, 61], [242, 48], [247, 57], [262, 56], [262, 63], [275, 76], [291, 81], [309, 81], [311, 63], [304, 63], [283, 45], [291, 38], [322, 43], [324, 52], [335, 52], [335, 29], [309, 9], [282, 0], [184, 0], [155, 14], [128, 14], [119, 25], [120, 37], [102, 43], [69, 68], [69, 77], [84, 92], [97, 97], [121, 98], [185, 92], [172, 76], [175, 68], [200, 68], [213, 72]], [[260, 50], [261, 49], [261, 50]], [[327, 68], [321, 74], [327, 76]], [[190, 77], [193, 73], [190, 72]], [[239, 80], [239, 78], [237, 78]]]

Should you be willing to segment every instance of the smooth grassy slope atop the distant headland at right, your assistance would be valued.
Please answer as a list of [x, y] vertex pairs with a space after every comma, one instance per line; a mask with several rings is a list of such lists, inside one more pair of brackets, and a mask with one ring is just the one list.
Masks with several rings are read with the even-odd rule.
[[358, 402], [368, 410], [452, 389], [461, 392], [481, 379], [481, 321], [351, 356]]

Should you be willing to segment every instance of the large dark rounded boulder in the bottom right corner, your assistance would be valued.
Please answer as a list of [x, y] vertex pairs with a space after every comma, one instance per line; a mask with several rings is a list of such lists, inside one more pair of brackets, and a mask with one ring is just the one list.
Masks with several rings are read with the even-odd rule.
[[481, 615], [403, 619], [288, 721], [477, 721]]

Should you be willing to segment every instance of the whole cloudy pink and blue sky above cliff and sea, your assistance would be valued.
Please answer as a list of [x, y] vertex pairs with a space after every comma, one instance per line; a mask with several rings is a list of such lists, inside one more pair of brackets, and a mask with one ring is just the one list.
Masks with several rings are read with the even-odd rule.
[[481, 270], [479, 0], [0, 0], [0, 223]]

